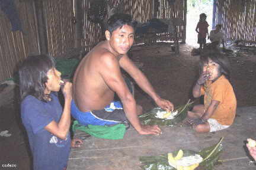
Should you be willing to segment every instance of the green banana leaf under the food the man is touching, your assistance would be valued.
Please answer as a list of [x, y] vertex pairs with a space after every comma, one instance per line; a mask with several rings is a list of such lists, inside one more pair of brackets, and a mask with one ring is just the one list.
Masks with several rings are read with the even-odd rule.
[[188, 100], [187, 104], [184, 104], [182, 106], [177, 107], [178, 114], [174, 117], [174, 119], [161, 119], [156, 116], [156, 113], [158, 110], [160, 112], [165, 111], [164, 109], [161, 109], [160, 107], [155, 107], [154, 109], [150, 110], [148, 113], [144, 113], [139, 116], [140, 122], [142, 122], [144, 125], [159, 125], [159, 126], [174, 126], [180, 123], [187, 117], [187, 111], [191, 108], [191, 105], [194, 102], [190, 102]]

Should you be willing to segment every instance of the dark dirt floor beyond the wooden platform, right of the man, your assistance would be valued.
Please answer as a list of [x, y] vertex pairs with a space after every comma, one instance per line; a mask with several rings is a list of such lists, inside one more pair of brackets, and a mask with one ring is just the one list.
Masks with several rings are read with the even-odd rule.
[[[180, 45], [180, 55], [176, 55], [168, 44], [137, 47], [132, 50], [132, 60], [151, 81], [155, 90], [176, 106], [193, 99], [191, 89], [199, 76], [199, 55], [191, 55], [193, 47]], [[143, 50], [140, 50], [143, 49]], [[254, 53], [241, 52], [236, 57], [228, 57], [231, 63], [231, 84], [236, 94], [238, 107], [255, 106]], [[151, 98], [136, 88], [136, 99], [145, 110], [154, 107]]]

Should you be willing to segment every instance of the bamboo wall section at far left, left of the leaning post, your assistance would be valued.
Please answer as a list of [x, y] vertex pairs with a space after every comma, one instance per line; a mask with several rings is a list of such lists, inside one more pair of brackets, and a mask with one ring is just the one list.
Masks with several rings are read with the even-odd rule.
[[23, 31], [11, 31], [7, 15], [0, 10], [0, 82], [12, 77], [28, 54], [39, 52], [33, 3], [15, 1], [15, 6]]

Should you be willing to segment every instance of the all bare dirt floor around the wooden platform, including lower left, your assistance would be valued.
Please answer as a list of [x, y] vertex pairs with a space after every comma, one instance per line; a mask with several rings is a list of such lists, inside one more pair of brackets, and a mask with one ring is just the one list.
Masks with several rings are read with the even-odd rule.
[[[180, 55], [176, 55], [167, 43], [140, 45], [132, 48], [130, 58], [146, 74], [158, 94], [177, 106], [193, 99], [191, 89], [199, 73], [199, 55], [191, 55], [192, 48], [185, 44], [180, 45]], [[238, 107], [255, 106], [255, 54], [244, 52], [239, 56], [229, 57], [229, 60], [232, 66], [231, 83]], [[135, 98], [137, 103], [143, 106], [144, 112], [156, 106], [152, 99], [137, 87]], [[0, 131], [9, 130], [11, 133], [10, 137], [0, 136], [0, 166], [13, 164], [17, 167], [4, 169], [29, 170], [31, 161], [28, 156], [27, 138], [21, 125], [19, 103], [15, 101], [17, 100], [14, 99], [13, 102], [0, 107]]]

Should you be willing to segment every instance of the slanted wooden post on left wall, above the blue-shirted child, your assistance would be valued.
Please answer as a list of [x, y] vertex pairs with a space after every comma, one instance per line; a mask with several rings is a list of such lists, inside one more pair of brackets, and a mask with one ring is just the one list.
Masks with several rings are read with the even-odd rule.
[[39, 46], [39, 54], [48, 54], [48, 40], [47, 40], [47, 29], [46, 22], [43, 13], [43, 1], [35, 0], [33, 3], [34, 14], [36, 16], [35, 20], [37, 23], [37, 35], [38, 35], [38, 46]]

